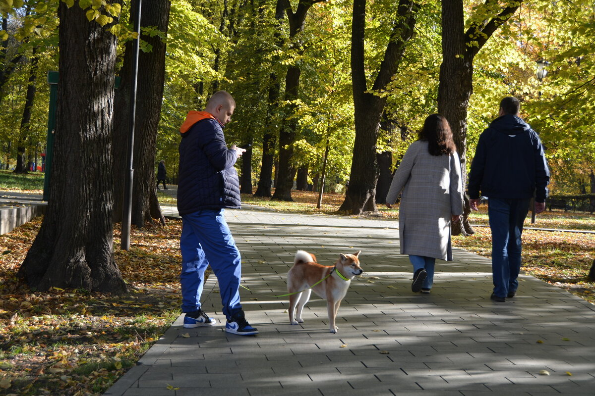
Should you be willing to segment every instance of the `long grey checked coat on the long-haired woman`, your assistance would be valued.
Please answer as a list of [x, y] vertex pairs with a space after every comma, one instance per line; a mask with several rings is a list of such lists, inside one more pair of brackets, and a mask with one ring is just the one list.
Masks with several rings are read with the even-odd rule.
[[413, 142], [394, 173], [386, 202], [393, 204], [401, 191], [401, 254], [452, 261], [450, 218], [463, 213], [458, 155], [432, 156], [427, 141]]

